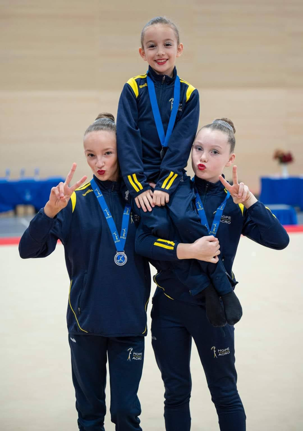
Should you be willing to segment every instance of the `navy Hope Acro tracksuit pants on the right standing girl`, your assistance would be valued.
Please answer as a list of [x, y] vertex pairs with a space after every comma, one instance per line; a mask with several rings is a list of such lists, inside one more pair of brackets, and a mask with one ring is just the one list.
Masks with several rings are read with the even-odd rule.
[[[191, 429], [192, 338], [197, 345], [221, 431], [245, 431], [245, 412], [237, 390], [234, 327], [213, 327], [200, 305], [153, 298], [152, 344], [165, 386], [166, 431]], [[203, 403], [201, 402], [201, 405]]]

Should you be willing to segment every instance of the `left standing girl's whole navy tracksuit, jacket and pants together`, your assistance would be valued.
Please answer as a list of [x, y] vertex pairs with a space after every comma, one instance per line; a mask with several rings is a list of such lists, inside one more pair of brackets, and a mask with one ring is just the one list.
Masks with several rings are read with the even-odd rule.
[[[121, 184], [94, 178], [120, 234], [125, 207]], [[66, 208], [54, 219], [41, 209], [19, 244], [24, 259], [50, 255], [58, 239], [64, 245], [70, 278], [68, 340], [82, 431], [104, 430], [107, 356], [111, 420], [117, 431], [141, 429], [137, 391], [144, 361], [150, 272], [147, 259], [135, 253], [138, 221], [138, 215], [132, 213], [125, 244], [128, 260], [119, 267], [113, 260], [116, 248], [112, 234], [87, 183], [71, 195]], [[148, 248], [154, 242], [155, 238], [147, 236]]]

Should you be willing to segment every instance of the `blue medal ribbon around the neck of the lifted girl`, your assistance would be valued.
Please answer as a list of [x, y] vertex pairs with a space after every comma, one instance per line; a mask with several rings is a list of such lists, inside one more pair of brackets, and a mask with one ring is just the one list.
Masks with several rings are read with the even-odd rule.
[[178, 76], [176, 76], [176, 79], [175, 79], [174, 100], [172, 103], [172, 110], [170, 113], [170, 119], [169, 119], [169, 123], [167, 126], [166, 134], [164, 133], [163, 123], [162, 123], [162, 119], [161, 119], [161, 115], [160, 115], [160, 111], [159, 111], [159, 106], [158, 106], [158, 102], [157, 102], [155, 84], [154, 84], [153, 80], [149, 78], [148, 70], [147, 70], [146, 80], [147, 80], [147, 89], [148, 89], [150, 104], [152, 105], [152, 110], [153, 110], [153, 114], [154, 114], [156, 127], [157, 127], [157, 131], [158, 131], [159, 139], [160, 139], [160, 142], [162, 145], [161, 158], [163, 159], [164, 154], [165, 154], [165, 148], [168, 147], [168, 141], [169, 141], [169, 138], [172, 134], [174, 124], [176, 121], [176, 117], [177, 117], [177, 113], [178, 113], [179, 102], [180, 102], [180, 78]]

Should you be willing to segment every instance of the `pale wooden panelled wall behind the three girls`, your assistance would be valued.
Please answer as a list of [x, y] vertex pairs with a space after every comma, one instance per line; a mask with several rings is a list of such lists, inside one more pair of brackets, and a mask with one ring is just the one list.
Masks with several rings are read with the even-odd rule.
[[99, 112], [116, 115], [122, 86], [146, 70], [140, 31], [160, 14], [179, 25], [178, 73], [200, 91], [200, 125], [235, 122], [243, 180], [257, 191], [278, 173], [277, 148], [303, 173], [301, 0], [0, 0], [0, 176], [64, 175], [74, 160], [89, 173], [83, 133]]

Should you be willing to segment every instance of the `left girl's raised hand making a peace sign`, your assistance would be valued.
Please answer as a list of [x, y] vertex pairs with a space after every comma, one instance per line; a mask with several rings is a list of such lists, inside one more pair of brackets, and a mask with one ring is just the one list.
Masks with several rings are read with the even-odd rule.
[[61, 211], [61, 209], [65, 208], [68, 204], [70, 196], [75, 191], [75, 189], [81, 186], [81, 184], [83, 184], [87, 179], [87, 176], [83, 176], [72, 187], [69, 187], [68, 185], [71, 182], [76, 168], [77, 163], [73, 163], [64, 183], [61, 182], [58, 184], [58, 186], [52, 188], [49, 201], [44, 207], [44, 212], [46, 215], [48, 215], [48, 217], [54, 218], [55, 215]]

